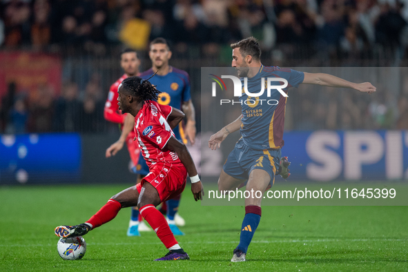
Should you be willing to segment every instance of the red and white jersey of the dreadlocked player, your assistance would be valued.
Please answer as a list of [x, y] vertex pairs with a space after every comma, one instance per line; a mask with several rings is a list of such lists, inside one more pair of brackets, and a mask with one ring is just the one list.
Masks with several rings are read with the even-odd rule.
[[135, 117], [135, 133], [149, 169], [157, 163], [183, 166], [177, 154], [165, 147], [171, 136], [175, 136], [167, 123], [172, 110], [171, 106], [148, 101]]

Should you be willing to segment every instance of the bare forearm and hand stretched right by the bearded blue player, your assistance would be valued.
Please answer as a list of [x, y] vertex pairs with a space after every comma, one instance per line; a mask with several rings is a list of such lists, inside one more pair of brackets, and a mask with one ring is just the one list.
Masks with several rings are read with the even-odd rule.
[[369, 82], [364, 83], [353, 83], [345, 79], [340, 79], [340, 77], [335, 77], [333, 75], [324, 74], [322, 72], [311, 73], [304, 72], [303, 84], [315, 84], [328, 87], [340, 87], [340, 88], [351, 88], [358, 90], [361, 93], [374, 93], [376, 87], [374, 87]]

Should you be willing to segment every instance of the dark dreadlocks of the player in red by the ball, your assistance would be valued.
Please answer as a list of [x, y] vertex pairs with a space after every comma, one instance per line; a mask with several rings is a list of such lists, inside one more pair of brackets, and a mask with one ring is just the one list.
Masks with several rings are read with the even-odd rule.
[[149, 100], [157, 100], [157, 95], [161, 93], [159, 90], [153, 86], [149, 79], [154, 77], [159, 70], [157, 70], [148, 79], [142, 79], [142, 77], [128, 77], [122, 81], [122, 86], [124, 89], [130, 93], [130, 95], [136, 96], [142, 100], [142, 104]]

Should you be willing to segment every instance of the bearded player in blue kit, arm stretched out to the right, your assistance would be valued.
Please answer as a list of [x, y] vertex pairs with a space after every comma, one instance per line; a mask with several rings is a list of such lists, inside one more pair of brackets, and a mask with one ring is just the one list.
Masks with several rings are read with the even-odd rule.
[[[285, 94], [288, 93], [289, 87], [298, 87], [299, 84], [352, 88], [369, 94], [376, 91], [376, 87], [369, 82], [355, 84], [324, 73], [298, 72], [277, 66], [263, 66], [260, 61], [261, 50], [258, 41], [253, 37], [233, 43], [231, 48], [233, 49], [232, 66], [237, 70], [242, 83], [244, 78], [247, 78], [249, 93], [260, 92], [262, 77], [286, 79], [288, 86], [282, 89]], [[275, 85], [279, 84], [275, 83]], [[250, 102], [244, 103], [247, 99]], [[271, 99], [278, 101], [278, 104], [265, 103]], [[242, 135], [221, 171], [218, 179], [220, 191], [235, 190], [245, 179], [248, 180], [246, 191], [262, 191], [263, 194], [271, 187], [275, 181], [275, 175], [279, 173], [280, 148], [284, 146], [286, 99], [287, 97], [284, 97], [277, 89], [271, 90], [271, 97], [267, 97], [266, 88], [260, 97], [248, 97], [246, 93], [242, 93], [240, 97], [242, 115], [210, 137], [208, 147], [215, 150], [220, 148], [220, 144], [230, 133], [240, 129]], [[287, 168], [284, 166], [282, 168], [286, 174]], [[245, 260], [248, 246], [260, 223], [261, 201], [262, 197], [257, 198], [252, 195], [245, 199], [245, 217], [241, 227], [240, 244], [233, 251], [231, 262]]]

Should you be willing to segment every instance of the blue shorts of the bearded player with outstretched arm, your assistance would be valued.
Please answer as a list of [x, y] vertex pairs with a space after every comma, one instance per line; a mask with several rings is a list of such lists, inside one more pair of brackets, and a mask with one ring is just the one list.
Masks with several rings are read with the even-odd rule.
[[273, 184], [275, 174], [279, 171], [281, 156], [280, 148], [255, 150], [246, 146], [240, 139], [226, 159], [223, 170], [235, 179], [248, 179], [253, 169], [262, 169], [269, 174]]

